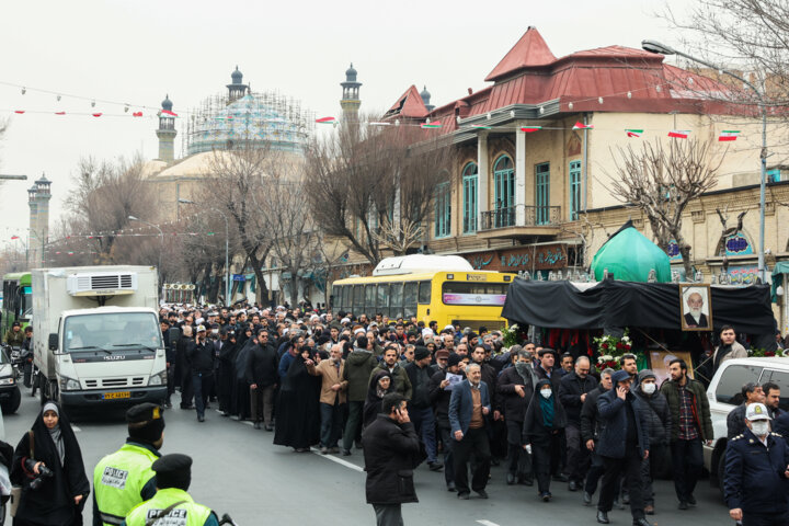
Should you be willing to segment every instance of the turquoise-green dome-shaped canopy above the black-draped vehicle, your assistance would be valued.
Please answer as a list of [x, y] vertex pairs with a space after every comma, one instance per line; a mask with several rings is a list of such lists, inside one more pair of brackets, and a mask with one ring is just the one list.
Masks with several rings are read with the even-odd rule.
[[592, 260], [595, 279], [603, 279], [606, 268], [615, 279], [641, 283], [647, 283], [654, 268], [658, 283], [671, 283], [668, 254], [639, 232], [631, 221], [611, 236]]

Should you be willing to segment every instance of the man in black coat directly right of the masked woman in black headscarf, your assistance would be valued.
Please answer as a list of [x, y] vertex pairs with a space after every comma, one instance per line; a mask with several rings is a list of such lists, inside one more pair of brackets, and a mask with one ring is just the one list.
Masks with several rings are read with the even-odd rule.
[[590, 359], [579, 356], [575, 370], [561, 379], [559, 401], [567, 413], [564, 439], [567, 442], [567, 466], [564, 472], [570, 479], [570, 491], [578, 491], [588, 470], [588, 450], [581, 438], [581, 405], [586, 396], [597, 388], [597, 380], [590, 376]]

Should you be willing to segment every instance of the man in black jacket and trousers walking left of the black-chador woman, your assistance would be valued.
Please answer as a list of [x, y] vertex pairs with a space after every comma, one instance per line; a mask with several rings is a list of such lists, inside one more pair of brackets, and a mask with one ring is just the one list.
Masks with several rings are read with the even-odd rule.
[[250, 402], [254, 428], [260, 430], [261, 420], [266, 431], [274, 430], [274, 389], [277, 381], [276, 350], [268, 341], [268, 330], [258, 332], [258, 344], [247, 354], [247, 382], [250, 386]]

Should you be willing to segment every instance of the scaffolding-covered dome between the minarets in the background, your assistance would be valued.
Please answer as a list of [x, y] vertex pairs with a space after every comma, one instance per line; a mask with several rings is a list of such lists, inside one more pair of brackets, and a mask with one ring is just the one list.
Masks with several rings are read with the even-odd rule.
[[227, 94], [205, 99], [185, 119], [187, 156], [242, 146], [301, 153], [315, 134], [315, 113], [276, 92]]

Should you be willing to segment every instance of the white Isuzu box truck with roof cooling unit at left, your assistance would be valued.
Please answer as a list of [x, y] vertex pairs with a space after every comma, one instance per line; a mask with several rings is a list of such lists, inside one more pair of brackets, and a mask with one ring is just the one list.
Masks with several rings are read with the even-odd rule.
[[41, 401], [161, 403], [167, 362], [151, 266], [37, 268], [33, 348]]

